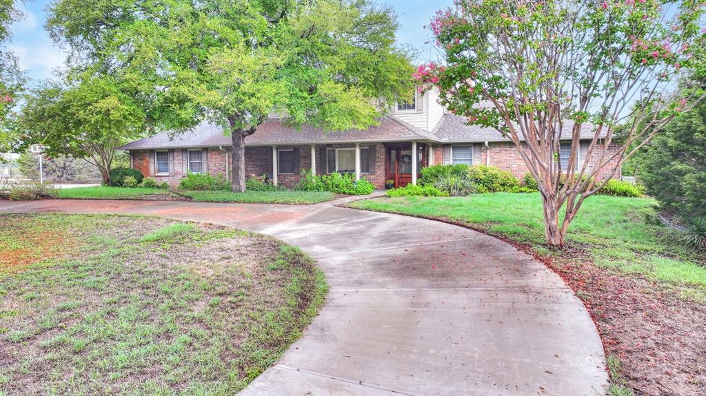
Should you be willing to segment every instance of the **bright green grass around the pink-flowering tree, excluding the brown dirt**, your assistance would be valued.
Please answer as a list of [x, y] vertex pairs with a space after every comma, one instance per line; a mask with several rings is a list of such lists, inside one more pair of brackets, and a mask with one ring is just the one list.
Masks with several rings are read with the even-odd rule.
[[[685, 296], [706, 299], [705, 254], [678, 242], [681, 234], [657, 221], [655, 204], [647, 198], [590, 197], [570, 225], [568, 245], [585, 250], [597, 266], [640, 273], [678, 287]], [[540, 254], [556, 254], [544, 245], [538, 193], [366, 199], [351, 206], [446, 218], [532, 245]]]

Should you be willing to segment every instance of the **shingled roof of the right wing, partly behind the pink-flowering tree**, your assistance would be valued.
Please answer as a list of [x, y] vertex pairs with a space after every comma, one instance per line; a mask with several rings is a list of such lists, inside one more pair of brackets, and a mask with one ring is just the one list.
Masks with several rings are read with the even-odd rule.
[[[572, 120], [565, 120], [561, 135], [570, 139], [571, 130], [574, 123]], [[510, 142], [510, 139], [503, 137], [500, 132], [493, 128], [483, 128], [478, 125], [466, 125], [466, 118], [453, 114], [444, 114], [432, 131], [436, 137], [445, 143], [455, 142]], [[605, 130], [601, 137], [605, 137]], [[581, 127], [581, 139], [593, 139], [593, 125], [585, 123]], [[525, 140], [520, 133], [520, 140]]]

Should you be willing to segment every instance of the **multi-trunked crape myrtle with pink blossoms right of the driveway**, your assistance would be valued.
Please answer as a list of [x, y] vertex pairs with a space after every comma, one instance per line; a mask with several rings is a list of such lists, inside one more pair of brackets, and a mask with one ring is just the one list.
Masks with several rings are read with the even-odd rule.
[[[472, 125], [517, 147], [542, 196], [546, 241], [564, 245], [582, 202], [698, 96], [674, 81], [703, 68], [704, 1], [457, 0], [431, 30], [443, 66], [415, 78]], [[616, 140], [614, 128], [628, 123]], [[579, 160], [581, 131], [590, 130]], [[561, 141], [571, 142], [566, 168]], [[617, 149], [609, 149], [609, 146]], [[584, 153], [581, 153], [582, 156]]]

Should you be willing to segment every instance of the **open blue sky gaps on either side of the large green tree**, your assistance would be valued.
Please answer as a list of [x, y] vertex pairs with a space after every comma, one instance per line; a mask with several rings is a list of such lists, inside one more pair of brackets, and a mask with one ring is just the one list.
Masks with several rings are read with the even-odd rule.
[[[418, 62], [436, 60], [436, 54], [428, 44], [429, 30], [424, 25], [436, 10], [450, 6], [451, 0], [380, 0], [393, 6], [400, 20], [400, 30], [397, 41], [402, 44], [412, 44], [419, 51]], [[64, 51], [56, 47], [44, 31], [44, 21], [47, 13], [44, 8], [49, 0], [30, 0], [19, 3], [25, 13], [25, 18], [11, 27], [13, 37], [8, 44], [9, 49], [20, 58], [20, 66], [28, 71], [35, 82], [52, 77], [52, 70], [61, 67], [66, 58]]]

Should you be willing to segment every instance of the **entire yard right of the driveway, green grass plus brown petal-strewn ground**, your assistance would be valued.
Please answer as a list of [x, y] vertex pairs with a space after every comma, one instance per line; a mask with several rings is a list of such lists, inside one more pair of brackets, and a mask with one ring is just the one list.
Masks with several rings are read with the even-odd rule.
[[564, 250], [544, 245], [538, 193], [366, 199], [349, 206], [452, 221], [513, 241], [549, 264], [586, 304], [615, 374], [611, 395], [632, 395], [621, 393], [621, 384], [640, 394], [698, 395], [706, 389], [706, 254], [659, 222], [655, 204], [590, 197]]

